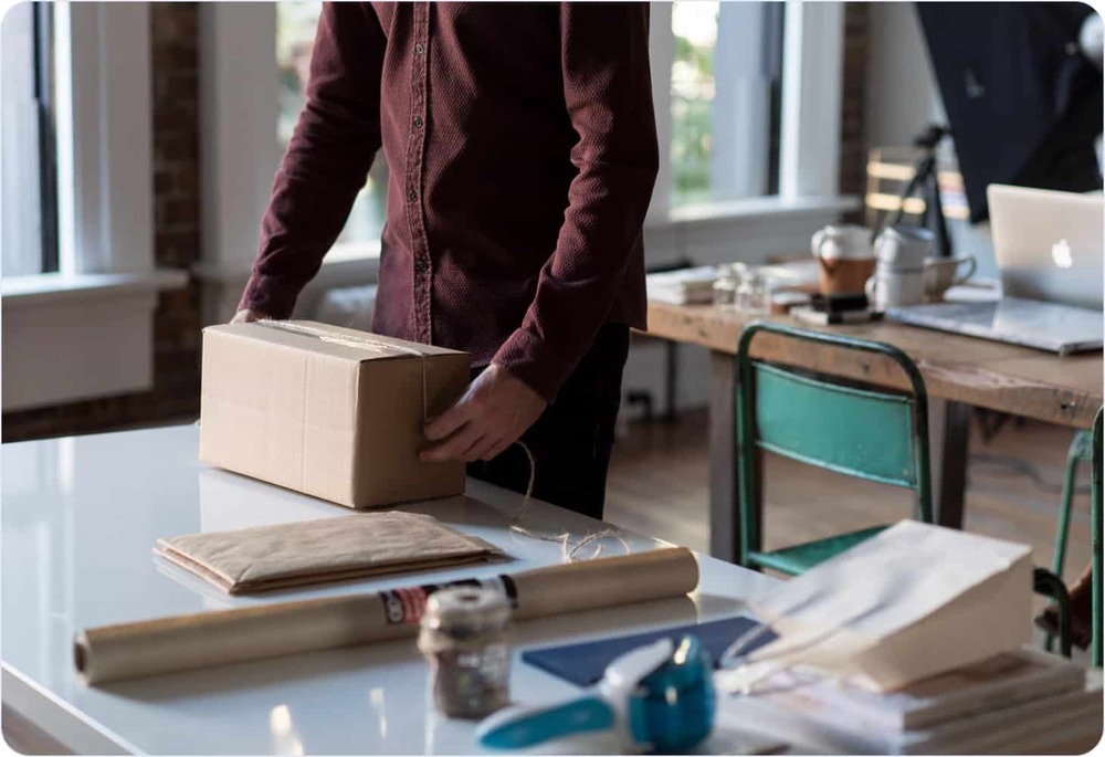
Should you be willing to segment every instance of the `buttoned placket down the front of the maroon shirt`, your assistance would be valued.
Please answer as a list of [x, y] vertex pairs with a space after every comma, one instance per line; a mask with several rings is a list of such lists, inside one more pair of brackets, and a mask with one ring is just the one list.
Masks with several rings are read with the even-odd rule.
[[425, 231], [425, 187], [423, 161], [425, 156], [427, 91], [430, 57], [430, 3], [417, 2], [414, 12], [413, 48], [411, 50], [411, 107], [407, 124], [407, 171], [403, 183], [407, 192], [407, 228], [410, 233], [414, 281], [414, 338], [430, 344], [431, 282], [433, 261]]

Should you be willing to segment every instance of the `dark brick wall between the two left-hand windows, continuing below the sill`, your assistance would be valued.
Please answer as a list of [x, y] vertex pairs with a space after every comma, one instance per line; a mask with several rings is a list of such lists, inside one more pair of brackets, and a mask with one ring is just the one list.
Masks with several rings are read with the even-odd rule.
[[[154, 252], [160, 267], [199, 257], [197, 10], [150, 3]], [[199, 287], [164, 292], [154, 320], [154, 389], [3, 414], [3, 441], [91, 433], [199, 414]]]

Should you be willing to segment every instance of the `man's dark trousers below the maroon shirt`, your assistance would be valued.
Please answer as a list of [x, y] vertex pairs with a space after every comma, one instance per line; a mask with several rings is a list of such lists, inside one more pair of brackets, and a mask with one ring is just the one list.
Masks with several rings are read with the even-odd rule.
[[[602, 518], [628, 354], [628, 326], [607, 324], [600, 328], [556, 400], [522, 435], [537, 463], [534, 497]], [[473, 378], [481, 370], [473, 370]], [[522, 448], [512, 444], [494, 460], [470, 463], [469, 475], [525, 493], [529, 461]]]

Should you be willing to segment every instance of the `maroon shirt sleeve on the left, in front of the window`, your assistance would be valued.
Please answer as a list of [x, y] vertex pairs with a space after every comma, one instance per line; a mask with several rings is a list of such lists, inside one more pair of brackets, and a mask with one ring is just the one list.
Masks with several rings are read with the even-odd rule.
[[291, 316], [341, 232], [381, 145], [386, 43], [368, 3], [324, 3], [306, 104], [276, 172], [240, 309]]

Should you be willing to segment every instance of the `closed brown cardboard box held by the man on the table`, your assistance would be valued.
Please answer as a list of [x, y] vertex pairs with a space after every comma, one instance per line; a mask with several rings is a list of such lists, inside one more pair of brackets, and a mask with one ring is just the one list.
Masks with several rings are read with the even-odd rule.
[[349, 507], [451, 496], [464, 463], [423, 463], [424, 413], [470, 356], [307, 320], [203, 330], [200, 460]]

